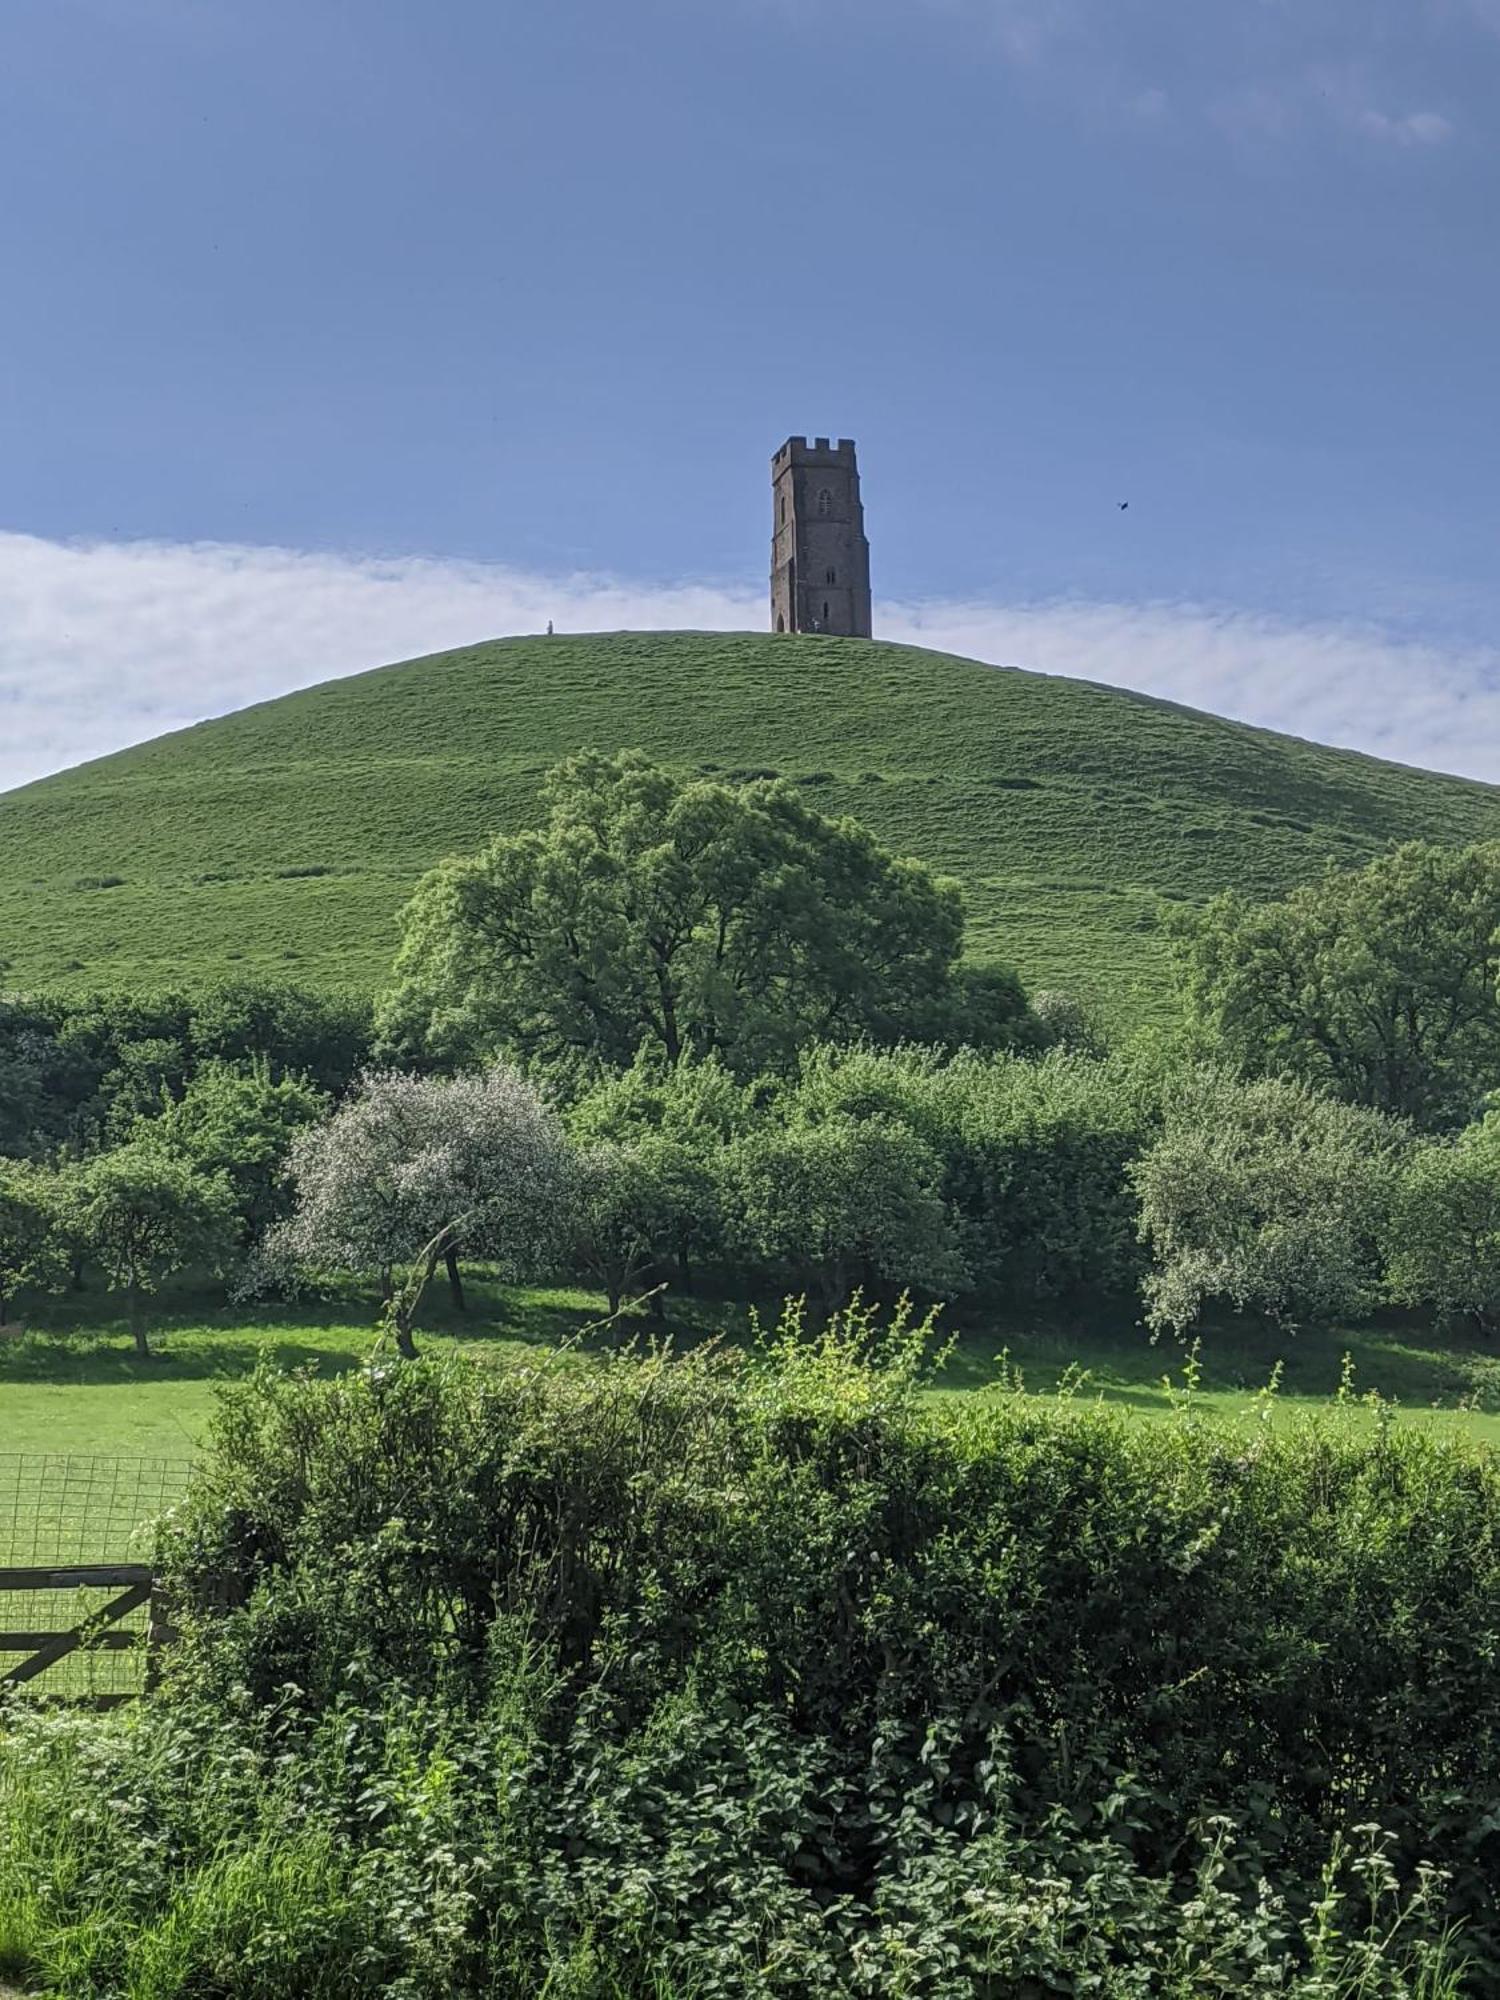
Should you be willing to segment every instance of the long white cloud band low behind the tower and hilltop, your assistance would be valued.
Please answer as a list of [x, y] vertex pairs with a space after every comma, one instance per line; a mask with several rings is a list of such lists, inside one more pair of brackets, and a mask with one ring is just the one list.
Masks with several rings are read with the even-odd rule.
[[[760, 630], [760, 590], [478, 562], [0, 534], [0, 786], [446, 646], [560, 630]], [[1500, 780], [1500, 652], [1200, 604], [882, 604], [882, 638], [1102, 680]]]

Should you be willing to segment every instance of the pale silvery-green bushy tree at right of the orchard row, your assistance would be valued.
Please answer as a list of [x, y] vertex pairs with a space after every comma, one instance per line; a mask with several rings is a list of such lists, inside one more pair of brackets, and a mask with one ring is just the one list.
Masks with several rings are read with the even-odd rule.
[[1148, 1324], [1180, 1334], [1212, 1298], [1282, 1326], [1368, 1312], [1406, 1144], [1394, 1120], [1306, 1084], [1186, 1078], [1130, 1168]]

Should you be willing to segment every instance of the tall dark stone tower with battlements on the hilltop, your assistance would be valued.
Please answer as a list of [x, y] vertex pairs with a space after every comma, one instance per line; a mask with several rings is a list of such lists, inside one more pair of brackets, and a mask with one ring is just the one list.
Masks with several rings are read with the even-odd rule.
[[854, 440], [788, 438], [770, 462], [772, 632], [870, 638], [870, 544]]

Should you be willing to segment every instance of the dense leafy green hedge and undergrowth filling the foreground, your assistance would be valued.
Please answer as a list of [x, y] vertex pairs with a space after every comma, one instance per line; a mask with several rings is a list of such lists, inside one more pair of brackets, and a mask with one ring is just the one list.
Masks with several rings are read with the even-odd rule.
[[170, 1932], [152, 1992], [1310, 2000], [1456, 1992], [1420, 1966], [1452, 1916], [1492, 1990], [1494, 1462], [938, 1406], [916, 1336], [868, 1340], [232, 1392], [164, 1542], [168, 1696], [88, 1752], [0, 1738], [14, 1956], [78, 1992]]

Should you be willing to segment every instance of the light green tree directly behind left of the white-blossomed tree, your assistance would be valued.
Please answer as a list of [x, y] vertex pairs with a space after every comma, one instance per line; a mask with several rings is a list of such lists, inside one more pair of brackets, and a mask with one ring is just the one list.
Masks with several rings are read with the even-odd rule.
[[326, 1112], [322, 1090], [300, 1076], [274, 1080], [262, 1056], [250, 1064], [206, 1062], [182, 1098], [166, 1098], [136, 1132], [206, 1174], [222, 1174], [234, 1192], [240, 1240], [250, 1244], [290, 1208], [282, 1174], [292, 1138]]

